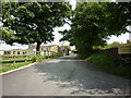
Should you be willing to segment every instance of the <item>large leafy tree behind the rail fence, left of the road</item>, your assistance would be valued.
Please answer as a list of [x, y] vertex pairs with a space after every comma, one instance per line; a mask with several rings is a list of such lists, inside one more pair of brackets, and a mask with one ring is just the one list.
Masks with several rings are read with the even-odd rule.
[[53, 27], [63, 25], [70, 16], [67, 2], [4, 2], [3, 24], [17, 37], [12, 42], [34, 44], [39, 51], [41, 42], [53, 40]]

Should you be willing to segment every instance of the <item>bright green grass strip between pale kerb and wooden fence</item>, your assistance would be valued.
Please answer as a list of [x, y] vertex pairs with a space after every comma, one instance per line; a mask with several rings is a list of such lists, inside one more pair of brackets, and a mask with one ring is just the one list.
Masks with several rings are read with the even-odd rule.
[[10, 71], [10, 70], [14, 70], [14, 69], [17, 69], [17, 68], [21, 68], [21, 66], [25, 66], [27, 64], [31, 64], [33, 62], [23, 62], [23, 63], [15, 63], [15, 64], [11, 64], [11, 65], [1, 65], [0, 66], [0, 71], [1, 72], [7, 72], [7, 71]]

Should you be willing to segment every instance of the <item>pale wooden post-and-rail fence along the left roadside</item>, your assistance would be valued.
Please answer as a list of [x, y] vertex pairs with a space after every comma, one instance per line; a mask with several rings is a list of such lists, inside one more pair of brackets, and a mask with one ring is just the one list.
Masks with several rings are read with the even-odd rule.
[[[3, 65], [9, 65], [9, 63], [15, 64], [16, 62], [27, 62], [31, 61], [34, 57], [47, 57], [53, 56], [53, 52], [44, 52], [44, 51], [28, 51], [28, 50], [0, 50], [1, 61]], [[8, 63], [8, 64], [5, 64]]]

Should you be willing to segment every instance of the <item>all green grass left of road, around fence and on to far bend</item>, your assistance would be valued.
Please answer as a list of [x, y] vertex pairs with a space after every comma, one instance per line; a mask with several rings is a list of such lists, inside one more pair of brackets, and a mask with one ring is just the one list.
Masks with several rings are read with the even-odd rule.
[[[27, 64], [31, 64], [33, 62], [40, 62], [50, 58], [56, 58], [56, 57], [61, 57], [62, 53], [55, 53], [53, 56], [36, 56], [36, 57], [32, 57], [29, 59], [27, 59], [27, 62], [25, 62], [25, 60], [16, 60], [15, 63], [13, 63], [13, 60], [10, 60], [11, 57], [4, 57], [4, 60], [9, 59], [8, 61], [0, 61], [0, 64], [2, 64], [0, 66], [0, 72], [7, 72], [10, 70], [14, 70]], [[1, 57], [2, 58], [2, 57]], [[17, 59], [17, 58], [16, 58]]]

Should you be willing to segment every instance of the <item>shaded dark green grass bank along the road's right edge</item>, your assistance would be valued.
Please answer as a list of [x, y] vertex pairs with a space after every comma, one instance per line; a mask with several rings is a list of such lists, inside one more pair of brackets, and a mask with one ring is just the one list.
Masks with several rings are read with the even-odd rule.
[[107, 57], [106, 54], [93, 54], [87, 59], [87, 61], [109, 73], [131, 78], [131, 66], [119, 64], [117, 61]]

